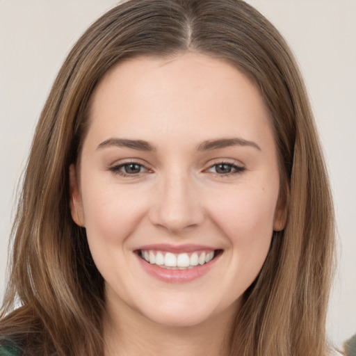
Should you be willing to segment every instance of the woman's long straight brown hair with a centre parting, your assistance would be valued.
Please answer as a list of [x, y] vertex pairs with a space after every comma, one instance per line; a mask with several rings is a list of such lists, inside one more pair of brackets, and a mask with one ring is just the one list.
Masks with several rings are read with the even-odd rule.
[[[275, 132], [287, 220], [245, 291], [231, 355], [325, 356], [334, 216], [325, 165], [296, 61], [266, 18], [241, 0], [130, 0], [97, 20], [60, 69], [38, 122], [13, 227], [0, 334], [29, 355], [103, 355], [104, 282], [70, 214], [69, 167], [90, 95], [133, 56], [197, 51], [250, 76]], [[15, 309], [15, 305], [21, 305]]]

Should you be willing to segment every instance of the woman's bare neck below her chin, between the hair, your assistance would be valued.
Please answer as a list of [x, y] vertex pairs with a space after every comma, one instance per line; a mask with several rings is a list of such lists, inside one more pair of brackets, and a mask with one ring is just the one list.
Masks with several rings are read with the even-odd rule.
[[[236, 306], [234, 306], [235, 309]], [[131, 315], [129, 315], [131, 314]], [[232, 310], [198, 325], [170, 326], [135, 311], [108, 309], [104, 323], [105, 356], [228, 356]]]

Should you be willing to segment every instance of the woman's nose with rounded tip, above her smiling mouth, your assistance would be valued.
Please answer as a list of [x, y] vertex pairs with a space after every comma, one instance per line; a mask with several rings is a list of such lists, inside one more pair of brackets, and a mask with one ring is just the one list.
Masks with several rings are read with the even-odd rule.
[[161, 181], [149, 212], [151, 222], [171, 234], [181, 234], [204, 221], [204, 211], [195, 182], [186, 175], [171, 175]]

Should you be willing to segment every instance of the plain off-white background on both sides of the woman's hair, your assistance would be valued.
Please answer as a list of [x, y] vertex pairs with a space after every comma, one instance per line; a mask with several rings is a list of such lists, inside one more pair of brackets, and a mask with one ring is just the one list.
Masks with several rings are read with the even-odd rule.
[[[356, 1], [250, 0], [291, 45], [316, 116], [339, 229], [328, 330], [356, 333]], [[0, 0], [0, 297], [15, 187], [56, 72], [79, 35], [113, 0]]]

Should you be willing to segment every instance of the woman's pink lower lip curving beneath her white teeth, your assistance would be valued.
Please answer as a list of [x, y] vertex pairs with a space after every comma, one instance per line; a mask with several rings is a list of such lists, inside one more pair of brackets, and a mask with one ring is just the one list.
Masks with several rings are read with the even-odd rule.
[[158, 280], [168, 283], [184, 283], [191, 282], [207, 274], [209, 270], [211, 270], [211, 268], [215, 266], [218, 259], [220, 259], [221, 254], [218, 254], [218, 256], [214, 257], [207, 264], [203, 264], [202, 266], [196, 266], [186, 270], [169, 270], [167, 268], [161, 268], [156, 264], [149, 264], [147, 261], [145, 261], [138, 255], [136, 256], [143, 269], [149, 275], [152, 275], [152, 277], [155, 277]]

